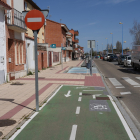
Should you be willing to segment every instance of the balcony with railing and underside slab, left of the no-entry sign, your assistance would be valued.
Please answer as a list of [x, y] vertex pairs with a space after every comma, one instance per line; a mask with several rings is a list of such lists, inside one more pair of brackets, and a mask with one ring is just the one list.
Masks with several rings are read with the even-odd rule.
[[22, 13], [20, 13], [16, 9], [7, 11], [7, 25], [9, 29], [17, 32], [27, 31]]

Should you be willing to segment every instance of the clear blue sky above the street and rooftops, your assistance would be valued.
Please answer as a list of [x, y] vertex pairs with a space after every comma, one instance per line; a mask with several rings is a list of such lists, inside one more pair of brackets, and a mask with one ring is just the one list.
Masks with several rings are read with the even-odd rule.
[[[95, 51], [102, 51], [109, 44], [122, 42], [123, 48], [132, 48], [133, 36], [129, 30], [136, 20], [140, 23], [140, 0], [33, 0], [41, 9], [50, 7], [50, 20], [64, 23], [70, 29], [78, 30], [79, 45], [87, 48], [87, 40], [95, 40]], [[108, 38], [108, 39], [106, 39]], [[98, 47], [97, 47], [98, 45]]]

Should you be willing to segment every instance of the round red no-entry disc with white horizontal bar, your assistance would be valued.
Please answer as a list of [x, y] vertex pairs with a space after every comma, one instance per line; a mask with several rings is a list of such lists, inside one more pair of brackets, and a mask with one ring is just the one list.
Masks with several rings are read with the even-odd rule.
[[31, 10], [25, 16], [25, 24], [31, 30], [39, 30], [45, 22], [44, 15], [39, 10]]

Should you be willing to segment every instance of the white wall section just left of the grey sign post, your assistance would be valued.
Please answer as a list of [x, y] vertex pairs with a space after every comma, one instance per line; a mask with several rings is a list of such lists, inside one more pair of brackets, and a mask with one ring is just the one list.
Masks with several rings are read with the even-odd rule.
[[27, 69], [28, 71], [35, 71], [35, 56], [34, 56], [34, 40], [26, 38], [27, 48]]

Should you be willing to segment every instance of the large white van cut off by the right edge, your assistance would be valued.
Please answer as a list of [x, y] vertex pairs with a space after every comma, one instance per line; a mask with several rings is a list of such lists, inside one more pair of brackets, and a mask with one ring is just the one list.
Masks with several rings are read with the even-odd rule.
[[134, 45], [132, 48], [131, 65], [134, 70], [140, 68], [140, 45]]

